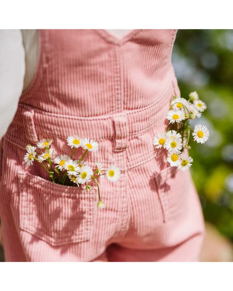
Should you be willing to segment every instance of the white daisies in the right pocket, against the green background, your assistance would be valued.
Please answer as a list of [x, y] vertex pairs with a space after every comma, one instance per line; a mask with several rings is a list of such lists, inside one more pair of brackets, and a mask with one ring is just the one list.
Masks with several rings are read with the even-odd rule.
[[[192, 166], [193, 159], [183, 157], [184, 149], [190, 150], [190, 132], [192, 128], [189, 120], [200, 118], [206, 109], [206, 104], [199, 99], [197, 92], [189, 94], [189, 100], [174, 96], [170, 102], [170, 110], [167, 113], [169, 124], [166, 132], [155, 136], [153, 144], [155, 148], [168, 150], [167, 161], [172, 167], [186, 171]], [[193, 133], [193, 140], [197, 143], [205, 143], [209, 139], [209, 130], [206, 126], [196, 125]]]

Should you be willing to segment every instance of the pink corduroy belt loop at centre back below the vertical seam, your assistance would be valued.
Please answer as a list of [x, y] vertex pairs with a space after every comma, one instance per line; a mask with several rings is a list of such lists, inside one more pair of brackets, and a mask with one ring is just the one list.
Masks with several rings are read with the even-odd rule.
[[119, 115], [115, 115], [112, 119], [115, 128], [113, 151], [121, 152], [125, 150], [128, 146], [129, 137], [128, 117], [126, 114], [120, 113]]

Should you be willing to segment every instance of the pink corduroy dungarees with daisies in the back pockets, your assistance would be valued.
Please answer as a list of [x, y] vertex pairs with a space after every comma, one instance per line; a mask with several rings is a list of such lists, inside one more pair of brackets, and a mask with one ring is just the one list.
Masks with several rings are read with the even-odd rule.
[[[134, 30], [117, 40], [104, 30], [40, 31], [40, 60], [31, 87], [1, 141], [0, 216], [7, 261], [195, 261], [204, 232], [190, 172], [166, 162], [153, 137], [165, 131], [173, 95], [176, 30]], [[25, 146], [66, 137], [98, 141], [94, 166], [117, 165], [117, 183], [53, 184]], [[80, 155], [75, 152], [74, 158]]]

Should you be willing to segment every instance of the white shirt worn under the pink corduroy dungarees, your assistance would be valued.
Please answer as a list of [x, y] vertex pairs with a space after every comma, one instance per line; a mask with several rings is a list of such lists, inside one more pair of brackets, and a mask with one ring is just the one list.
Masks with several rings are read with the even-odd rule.
[[[122, 38], [131, 29], [107, 29]], [[39, 38], [36, 29], [0, 30], [0, 139], [6, 133], [22, 92], [36, 72]]]

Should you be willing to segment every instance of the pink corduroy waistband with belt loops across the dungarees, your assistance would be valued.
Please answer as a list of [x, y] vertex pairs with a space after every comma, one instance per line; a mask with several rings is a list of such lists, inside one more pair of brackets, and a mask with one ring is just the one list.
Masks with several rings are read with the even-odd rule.
[[147, 107], [95, 117], [66, 116], [19, 104], [12, 125], [24, 127], [32, 142], [38, 140], [37, 133], [44, 134], [45, 138], [51, 134], [63, 138], [78, 135], [96, 141], [133, 138], [165, 121], [173, 95], [174, 90], [171, 86], [165, 95]]

